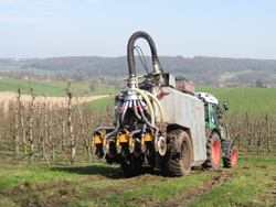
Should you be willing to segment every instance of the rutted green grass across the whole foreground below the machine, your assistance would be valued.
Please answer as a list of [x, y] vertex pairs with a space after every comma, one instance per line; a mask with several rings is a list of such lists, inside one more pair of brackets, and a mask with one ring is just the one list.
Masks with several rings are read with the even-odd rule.
[[1, 164], [0, 206], [276, 206], [275, 162], [240, 157], [234, 170], [193, 170], [180, 178], [159, 171], [126, 178], [95, 156], [74, 167]]

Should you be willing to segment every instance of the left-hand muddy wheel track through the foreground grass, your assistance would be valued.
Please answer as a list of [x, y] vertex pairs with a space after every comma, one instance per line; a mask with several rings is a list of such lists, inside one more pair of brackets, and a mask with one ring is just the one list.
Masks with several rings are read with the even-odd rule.
[[[57, 179], [54, 183], [45, 182], [39, 185], [24, 182], [18, 184], [12, 189], [0, 189], [0, 197], [13, 197], [12, 200], [21, 206], [32, 206], [32, 204], [36, 204], [38, 206], [66, 206], [66, 204], [72, 201], [119, 195], [125, 190], [135, 190], [139, 187], [144, 187], [147, 183], [152, 181], [166, 182], [168, 179], [173, 178], [152, 174], [142, 174], [131, 178], [125, 178], [123, 173], [112, 174], [108, 176], [96, 174], [95, 176], [83, 181]], [[100, 181], [110, 181], [110, 183], [105, 184], [104, 188], [95, 186], [81, 188], [81, 192], [85, 192], [85, 195], [83, 195], [83, 193], [78, 193], [78, 185]], [[70, 186], [75, 187], [73, 190], [66, 189], [66, 187]], [[54, 193], [47, 193], [47, 190], [55, 188], [56, 190], [54, 190]], [[41, 198], [41, 196], [38, 196], [38, 193], [39, 195], [42, 195], [44, 199]]]

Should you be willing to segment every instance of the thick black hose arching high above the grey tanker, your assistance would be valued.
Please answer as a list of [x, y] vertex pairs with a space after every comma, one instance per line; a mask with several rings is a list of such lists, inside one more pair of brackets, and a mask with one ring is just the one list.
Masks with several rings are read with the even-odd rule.
[[138, 39], [145, 39], [148, 41], [150, 51], [151, 51], [152, 63], [153, 64], [159, 63], [159, 59], [157, 56], [156, 44], [153, 40], [151, 39], [151, 36], [148, 33], [142, 32], [142, 31], [136, 32], [130, 36], [128, 41], [128, 45], [127, 45], [127, 61], [128, 61], [129, 77], [136, 77], [134, 46], [135, 46], [135, 42]]

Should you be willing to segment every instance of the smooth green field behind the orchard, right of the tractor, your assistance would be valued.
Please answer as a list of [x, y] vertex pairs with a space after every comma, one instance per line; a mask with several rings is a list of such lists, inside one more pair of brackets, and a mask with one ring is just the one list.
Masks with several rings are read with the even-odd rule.
[[269, 112], [276, 115], [276, 88], [251, 87], [197, 87], [197, 91], [210, 92], [221, 102], [229, 101], [230, 111], [243, 115]]

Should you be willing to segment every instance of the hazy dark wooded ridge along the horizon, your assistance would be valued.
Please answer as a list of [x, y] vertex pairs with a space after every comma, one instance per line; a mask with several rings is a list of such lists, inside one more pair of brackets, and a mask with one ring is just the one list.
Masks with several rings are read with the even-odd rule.
[[[146, 56], [149, 70], [152, 70], [151, 57]], [[217, 83], [224, 73], [237, 73], [252, 70], [252, 73], [241, 74], [237, 77], [229, 78], [226, 81], [251, 83], [257, 77], [262, 77], [263, 83], [276, 83], [270, 78], [276, 74], [276, 59], [250, 59], [250, 58], [221, 58], [195, 56], [184, 58], [183, 56], [160, 56], [160, 63], [166, 73], [173, 75], [185, 75], [194, 83]], [[22, 65], [22, 68], [36, 67], [42, 69], [65, 72], [71, 77], [75, 74], [86, 74], [87, 77], [128, 76], [127, 57], [53, 57], [33, 59]], [[145, 74], [140, 61], [136, 57], [137, 74]]]

